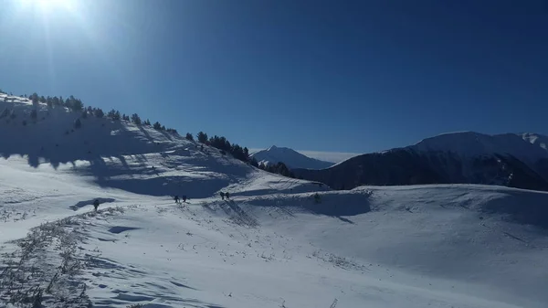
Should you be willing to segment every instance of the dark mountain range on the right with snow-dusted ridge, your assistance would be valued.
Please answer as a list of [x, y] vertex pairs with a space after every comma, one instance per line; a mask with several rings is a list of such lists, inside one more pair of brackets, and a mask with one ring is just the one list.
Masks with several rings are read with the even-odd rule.
[[445, 133], [404, 148], [358, 155], [324, 170], [293, 172], [335, 189], [469, 183], [548, 191], [548, 137]]

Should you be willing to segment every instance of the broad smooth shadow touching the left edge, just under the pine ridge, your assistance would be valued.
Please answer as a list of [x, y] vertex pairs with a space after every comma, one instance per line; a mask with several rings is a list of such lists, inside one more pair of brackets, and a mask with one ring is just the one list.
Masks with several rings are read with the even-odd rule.
[[[3, 108], [14, 111], [16, 118], [10, 122], [0, 121], [0, 155], [5, 159], [12, 155], [26, 157], [28, 165], [34, 168], [44, 163], [55, 169], [68, 163], [76, 167], [77, 161], [89, 161], [93, 165], [90, 170], [101, 177], [104, 176], [103, 156], [122, 160], [123, 153], [158, 151], [157, 146], [142, 141], [141, 135], [137, 135], [139, 131], [128, 130], [120, 121], [91, 115], [84, 119], [79, 112], [40, 106], [34, 122], [30, 121], [28, 105], [2, 102], [0, 109]], [[74, 125], [77, 119], [81, 122], [79, 128]], [[22, 121], [27, 122], [26, 126], [19, 123]]]

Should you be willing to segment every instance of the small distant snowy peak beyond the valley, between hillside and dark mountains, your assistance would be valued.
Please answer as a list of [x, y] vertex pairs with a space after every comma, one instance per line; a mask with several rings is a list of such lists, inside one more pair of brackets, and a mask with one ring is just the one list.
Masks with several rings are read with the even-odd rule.
[[270, 146], [266, 150], [261, 150], [253, 153], [251, 154], [251, 156], [255, 157], [259, 164], [270, 165], [282, 162], [290, 169], [324, 169], [334, 165], [330, 162], [324, 162], [318, 159], [308, 157], [304, 154], [300, 154], [299, 152], [290, 148], [278, 147], [275, 145]]

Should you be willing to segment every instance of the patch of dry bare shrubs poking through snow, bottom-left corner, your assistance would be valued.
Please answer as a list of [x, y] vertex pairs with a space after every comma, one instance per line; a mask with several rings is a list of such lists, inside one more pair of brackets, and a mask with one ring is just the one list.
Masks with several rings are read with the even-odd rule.
[[85, 283], [72, 278], [81, 268], [78, 226], [76, 218], [64, 218], [32, 228], [26, 238], [17, 240], [19, 250], [3, 255], [0, 302], [24, 307], [89, 305]]

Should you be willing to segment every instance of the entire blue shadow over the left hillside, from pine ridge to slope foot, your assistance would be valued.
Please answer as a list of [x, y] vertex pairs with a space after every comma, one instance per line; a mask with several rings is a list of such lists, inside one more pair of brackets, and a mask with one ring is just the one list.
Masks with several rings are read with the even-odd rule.
[[[64, 108], [49, 109], [43, 105], [37, 109], [37, 122], [27, 121], [27, 125], [22, 127], [20, 122], [29, 119], [32, 107], [0, 102], [0, 110], [2, 108], [15, 111], [17, 116], [8, 123], [0, 119], [0, 155], [6, 159], [21, 155], [34, 168], [48, 164], [58, 169], [61, 164], [71, 164], [73, 172], [92, 176], [102, 187], [149, 196], [178, 194], [191, 198], [207, 197], [238, 176], [248, 175], [252, 169], [243, 163], [238, 165], [235, 160], [221, 160], [219, 154], [198, 152], [193, 154], [195, 161], [204, 168], [194, 167], [193, 171], [201, 176], [199, 179], [187, 173], [163, 176], [151, 168], [147, 155], [163, 154], [165, 164], [173, 170], [181, 170], [180, 163], [183, 161], [177, 159], [181, 157], [178, 154], [187, 157], [190, 151], [184, 150], [185, 139], [178, 134], [91, 115], [84, 119], [79, 112], [68, 112]], [[78, 129], [74, 125], [77, 119], [81, 122]], [[206, 146], [205, 151], [209, 150]], [[167, 154], [171, 151], [175, 151], [174, 156]]]

